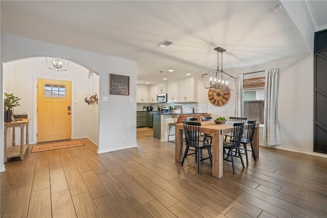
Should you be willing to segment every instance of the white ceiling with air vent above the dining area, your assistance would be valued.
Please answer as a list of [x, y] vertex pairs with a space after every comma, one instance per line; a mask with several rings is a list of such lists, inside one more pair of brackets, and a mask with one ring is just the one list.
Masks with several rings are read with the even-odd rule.
[[[154, 84], [217, 69], [218, 46], [227, 50], [225, 71], [312, 53], [294, 17], [285, 9], [274, 10], [279, 4], [1, 1], [1, 31], [136, 61], [137, 83]], [[313, 31], [327, 29], [327, 1], [310, 1], [303, 7]], [[156, 46], [166, 39], [174, 43], [165, 49]]]

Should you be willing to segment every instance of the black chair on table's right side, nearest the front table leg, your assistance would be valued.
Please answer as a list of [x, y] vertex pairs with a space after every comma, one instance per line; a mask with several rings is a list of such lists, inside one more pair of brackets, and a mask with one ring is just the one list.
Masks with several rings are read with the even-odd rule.
[[[243, 135], [243, 129], [244, 129], [244, 123], [234, 123], [231, 140], [223, 142], [224, 160], [230, 161], [232, 163], [233, 174], [236, 173], [235, 162], [234, 162], [235, 155], [233, 154], [233, 152], [235, 152], [236, 154], [241, 154], [240, 147], [242, 146], [241, 139], [242, 139], [242, 135]], [[226, 151], [228, 151], [228, 152], [226, 152]], [[245, 168], [242, 155], [239, 155], [239, 157], [241, 159], [243, 168]], [[231, 160], [229, 160], [229, 158], [231, 158]]]

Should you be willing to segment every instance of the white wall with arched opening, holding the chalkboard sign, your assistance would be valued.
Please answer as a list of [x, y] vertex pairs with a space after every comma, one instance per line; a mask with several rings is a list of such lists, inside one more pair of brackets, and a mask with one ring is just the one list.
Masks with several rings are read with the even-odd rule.
[[[1, 33], [1, 61], [9, 62], [29, 57], [57, 57], [79, 63], [96, 71], [100, 75], [99, 93], [99, 146], [98, 152], [108, 152], [136, 147], [136, 62], [111, 56], [72, 49], [70, 47], [22, 38]], [[3, 81], [3, 65], [0, 79]], [[109, 74], [129, 76], [130, 95], [109, 95]], [[0, 83], [0, 98], [4, 95], [3, 83]], [[108, 102], [103, 102], [108, 96]], [[133, 102], [129, 102], [129, 99]], [[0, 108], [4, 108], [0, 101]], [[0, 136], [4, 136], [4, 113], [0, 113]], [[125, 135], [125, 139], [122, 139]], [[0, 171], [4, 167], [4, 141], [0, 140]]]

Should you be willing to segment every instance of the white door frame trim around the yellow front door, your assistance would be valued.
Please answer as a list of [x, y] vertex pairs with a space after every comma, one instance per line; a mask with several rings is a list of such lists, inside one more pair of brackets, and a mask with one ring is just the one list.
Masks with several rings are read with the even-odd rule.
[[40, 77], [40, 76], [33, 76], [33, 144], [37, 143], [37, 80], [38, 79], [46, 79], [46, 80], [62, 80], [62, 81], [70, 81], [72, 83], [72, 123], [71, 123], [71, 139], [75, 139], [75, 81], [74, 80], [67, 80], [55, 77]]

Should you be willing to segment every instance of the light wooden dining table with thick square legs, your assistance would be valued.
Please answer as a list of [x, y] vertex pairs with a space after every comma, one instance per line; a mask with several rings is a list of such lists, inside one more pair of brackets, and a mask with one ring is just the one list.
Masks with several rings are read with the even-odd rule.
[[[223, 177], [223, 139], [224, 134], [233, 131], [233, 122], [227, 121], [225, 124], [216, 124], [213, 120], [198, 122], [201, 124], [200, 132], [211, 134], [212, 139], [212, 176], [218, 179]], [[247, 122], [244, 122], [244, 130], [248, 129]], [[182, 162], [183, 159], [183, 124], [175, 126], [175, 161]], [[256, 158], [259, 158], [259, 124], [255, 124], [253, 136], [253, 150]]]

